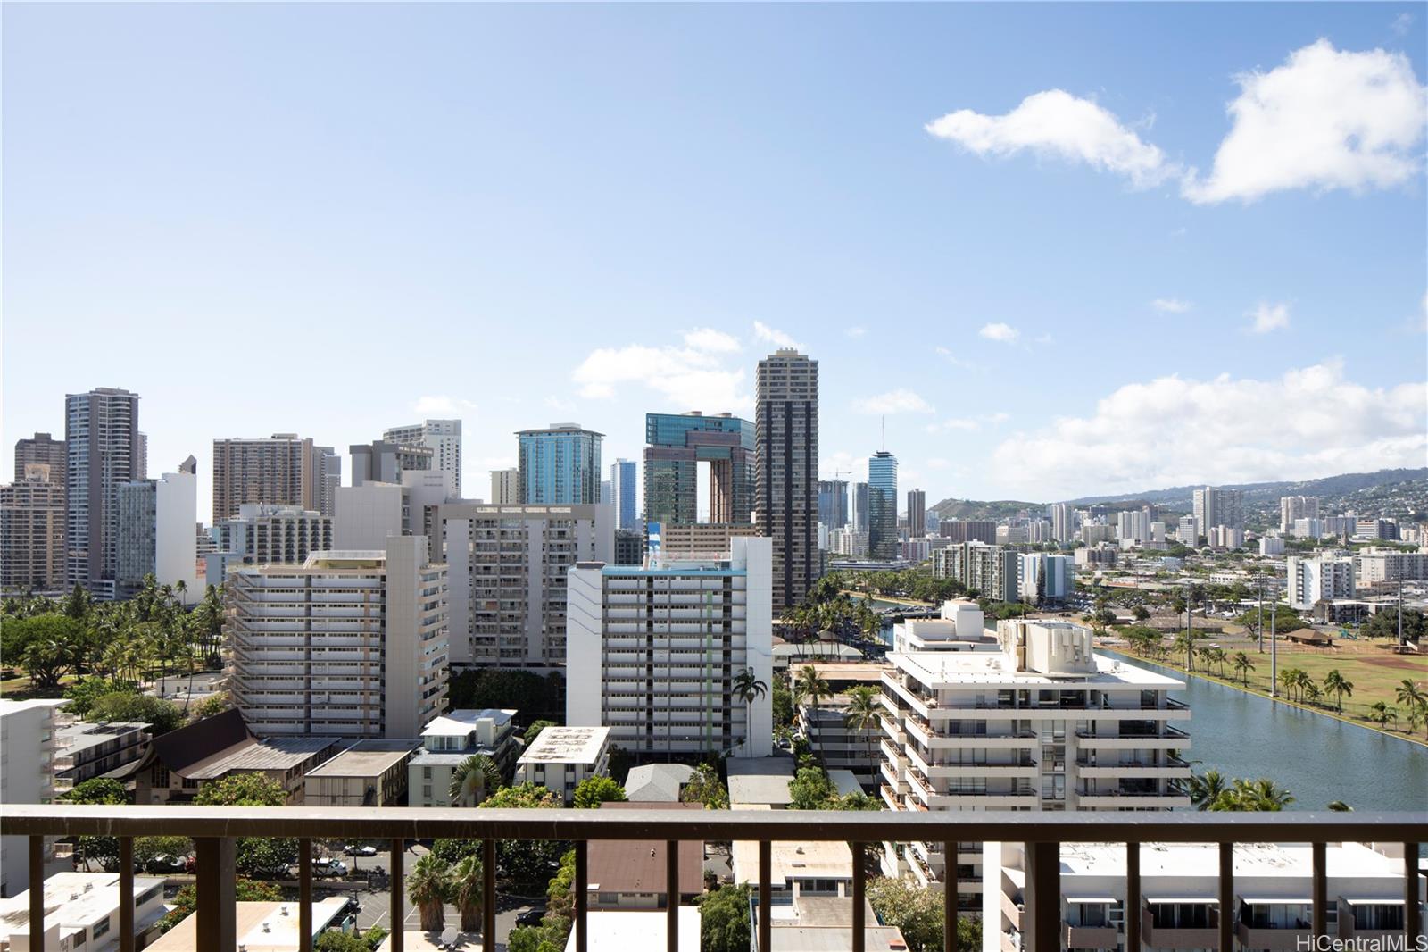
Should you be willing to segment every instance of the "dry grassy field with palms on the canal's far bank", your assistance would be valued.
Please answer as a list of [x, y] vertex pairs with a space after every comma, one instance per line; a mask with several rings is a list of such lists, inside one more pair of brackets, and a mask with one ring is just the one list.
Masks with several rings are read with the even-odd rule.
[[[1248, 685], [1245, 685], [1245, 679], [1234, 670], [1230, 660], [1225, 662], [1224, 675], [1221, 675], [1218, 665], [1211, 668], [1210, 672], [1201, 670], [1201, 660], [1197, 658], [1194, 673], [1208, 676], [1211, 680], [1218, 680], [1241, 690], [1269, 696], [1271, 658], [1268, 642], [1265, 642], [1265, 649], [1261, 653], [1254, 638], [1237, 626], [1228, 626], [1227, 632], [1207, 636], [1197, 646], [1222, 648], [1230, 658], [1234, 658], [1237, 652], [1244, 652], [1254, 662], [1255, 669], [1250, 672]], [[1341, 716], [1344, 720], [1351, 720], [1417, 743], [1428, 743], [1425, 740], [1428, 726], [1419, 725], [1417, 730], [1409, 730], [1408, 713], [1398, 705], [1394, 693], [1404, 679], [1412, 680], [1421, 689], [1428, 689], [1428, 658], [1422, 655], [1395, 655], [1391, 646], [1392, 642], [1387, 639], [1335, 639], [1332, 648], [1308, 648], [1281, 638], [1278, 642], [1279, 672], [1282, 673], [1288, 668], [1299, 668], [1322, 688], [1324, 676], [1331, 670], [1338, 670], [1345, 680], [1354, 685], [1354, 695], [1344, 696], [1342, 715], [1338, 710], [1338, 698], [1335, 695], [1325, 695], [1315, 705], [1297, 703], [1297, 706]], [[1155, 663], [1185, 670], [1185, 659], [1175, 658], [1174, 655], [1165, 659], [1155, 659]], [[1285, 699], [1284, 692], [1281, 692], [1279, 700], [1291, 703]], [[1389, 708], [1398, 709], [1397, 723], [1391, 720], [1388, 726], [1379, 728], [1375, 720], [1369, 720], [1369, 706], [1377, 700], [1382, 700]]]

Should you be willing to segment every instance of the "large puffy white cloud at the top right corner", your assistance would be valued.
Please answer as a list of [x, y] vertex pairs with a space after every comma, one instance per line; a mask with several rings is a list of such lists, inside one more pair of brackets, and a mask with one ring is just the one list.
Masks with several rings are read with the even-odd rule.
[[1254, 202], [1285, 189], [1387, 189], [1418, 174], [1428, 89], [1387, 50], [1335, 50], [1318, 40], [1284, 66], [1235, 77], [1234, 122], [1211, 174], [1182, 183], [1191, 202]]

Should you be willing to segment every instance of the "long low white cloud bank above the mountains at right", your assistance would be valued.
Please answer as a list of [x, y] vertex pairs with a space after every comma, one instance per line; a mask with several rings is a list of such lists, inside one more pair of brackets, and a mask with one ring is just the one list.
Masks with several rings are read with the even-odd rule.
[[1091, 416], [1008, 437], [991, 477], [1050, 500], [1422, 466], [1425, 407], [1428, 383], [1369, 389], [1338, 362], [1271, 380], [1160, 377], [1115, 390]]

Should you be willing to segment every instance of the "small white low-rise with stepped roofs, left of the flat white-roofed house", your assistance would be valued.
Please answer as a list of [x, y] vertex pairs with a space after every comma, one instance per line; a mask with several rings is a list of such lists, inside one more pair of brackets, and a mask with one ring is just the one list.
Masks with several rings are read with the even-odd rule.
[[407, 762], [410, 806], [476, 806], [451, 802], [451, 775], [468, 758], [486, 756], [508, 778], [518, 749], [514, 710], [458, 708], [441, 715], [421, 732], [421, 749]]

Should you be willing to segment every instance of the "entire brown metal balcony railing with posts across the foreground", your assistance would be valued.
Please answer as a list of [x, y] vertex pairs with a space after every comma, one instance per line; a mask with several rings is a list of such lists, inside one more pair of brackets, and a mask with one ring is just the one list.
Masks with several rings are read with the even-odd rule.
[[[234, 906], [234, 838], [293, 836], [298, 843], [298, 941], [311, 949], [313, 839], [390, 841], [391, 843], [391, 948], [403, 952], [406, 921], [403, 858], [406, 841], [457, 838], [481, 841], [484, 869], [483, 936], [494, 949], [496, 843], [497, 841], [568, 841], [575, 849], [574, 952], [588, 952], [587, 848], [591, 841], [664, 841], [667, 885], [677, 889], [678, 843], [758, 842], [758, 903], [771, 906], [774, 841], [941, 842], [944, 855], [955, 855], [958, 842], [1022, 842], [1027, 849], [1024, 913], [1025, 952], [1060, 952], [1065, 936], [1061, 919], [1061, 843], [1127, 843], [1127, 908], [1141, 908], [1140, 845], [1142, 842], [1220, 843], [1220, 906], [1234, 902], [1234, 845], [1289, 842], [1312, 843], [1312, 928], [1328, 935], [1328, 869], [1325, 843], [1397, 842], [1404, 845], [1404, 936], [1415, 948], [1422, 929], [1418, 889], [1418, 843], [1428, 841], [1424, 813], [1027, 813], [1027, 812], [785, 812], [785, 810], [520, 810], [520, 809], [420, 809], [420, 808], [217, 808], [217, 806], [0, 806], [0, 835], [30, 838], [30, 881], [44, 878], [46, 838], [116, 836], [120, 846], [121, 952], [134, 948], [133, 841], [136, 836], [190, 836], [197, 852], [197, 948], [233, 949], [237, 945]], [[865, 952], [865, 865], [853, 865], [851, 952]], [[955, 865], [947, 868], [947, 896], [957, 896]], [[665, 941], [678, 952], [678, 903], [668, 903]], [[944, 952], [954, 952], [957, 902], [944, 903]], [[758, 918], [757, 948], [770, 949], [770, 916]], [[1220, 949], [1231, 949], [1234, 919], [1217, 923]], [[30, 889], [31, 935], [43, 933], [44, 891]], [[1140, 949], [1141, 916], [1128, 916], [1127, 949]]]

